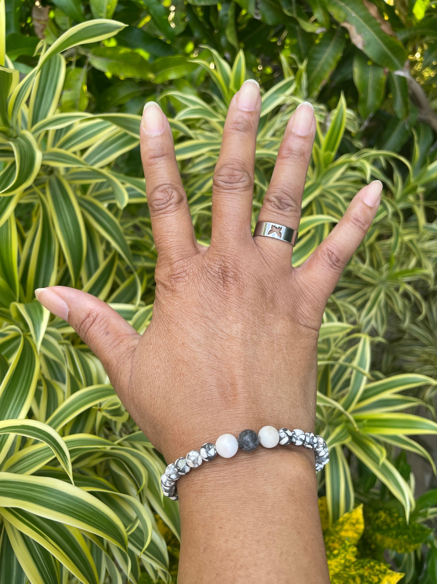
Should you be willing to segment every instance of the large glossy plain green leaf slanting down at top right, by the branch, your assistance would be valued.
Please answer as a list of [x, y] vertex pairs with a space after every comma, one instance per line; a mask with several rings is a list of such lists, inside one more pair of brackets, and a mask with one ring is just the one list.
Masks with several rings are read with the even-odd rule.
[[327, 0], [327, 9], [347, 29], [355, 46], [372, 61], [390, 71], [403, 68], [407, 59], [404, 47], [395, 36], [383, 32], [361, 0]]

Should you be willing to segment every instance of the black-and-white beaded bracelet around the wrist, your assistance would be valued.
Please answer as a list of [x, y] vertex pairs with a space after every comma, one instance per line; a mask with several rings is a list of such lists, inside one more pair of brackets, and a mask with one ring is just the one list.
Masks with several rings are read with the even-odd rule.
[[216, 440], [216, 444], [207, 442], [199, 450], [190, 450], [189, 453], [178, 458], [175, 463], [171, 463], [161, 475], [161, 489], [166, 497], [178, 500], [178, 489], [176, 481], [191, 470], [198, 468], [203, 461], [209, 462], [218, 456], [231, 458], [237, 450], [251, 452], [258, 444], [265, 448], [273, 448], [277, 444], [281, 446], [305, 446], [311, 448], [316, 456], [316, 471], [321, 471], [329, 462], [329, 450], [322, 436], [316, 436], [313, 432], [302, 432], [302, 430], [287, 430], [281, 428], [279, 431], [273, 426], [262, 427], [258, 434], [253, 430], [243, 430], [239, 433], [238, 439], [232, 434], [222, 434]]

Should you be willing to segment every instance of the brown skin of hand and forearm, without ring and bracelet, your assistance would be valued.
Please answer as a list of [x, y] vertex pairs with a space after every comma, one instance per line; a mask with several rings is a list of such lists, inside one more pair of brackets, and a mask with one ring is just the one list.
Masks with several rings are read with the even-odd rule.
[[[253, 111], [238, 99], [214, 174], [209, 248], [195, 239], [168, 121], [147, 108], [140, 137], [158, 262], [143, 336], [89, 294], [60, 286], [38, 291], [97, 354], [168, 462], [223, 433], [265, 425], [314, 430], [323, 310], [380, 199], [380, 183], [364, 187], [329, 237], [292, 268], [291, 245], [251, 234], [260, 99]], [[308, 135], [293, 124], [260, 220], [298, 228], [316, 123], [309, 120]], [[182, 478], [178, 491], [179, 584], [329, 582], [312, 451], [259, 447], [217, 457]]]

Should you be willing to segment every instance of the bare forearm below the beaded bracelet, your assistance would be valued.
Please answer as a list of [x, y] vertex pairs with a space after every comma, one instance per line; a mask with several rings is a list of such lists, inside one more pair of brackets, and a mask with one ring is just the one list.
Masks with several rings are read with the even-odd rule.
[[313, 458], [259, 448], [182, 478], [178, 583], [329, 583]]

